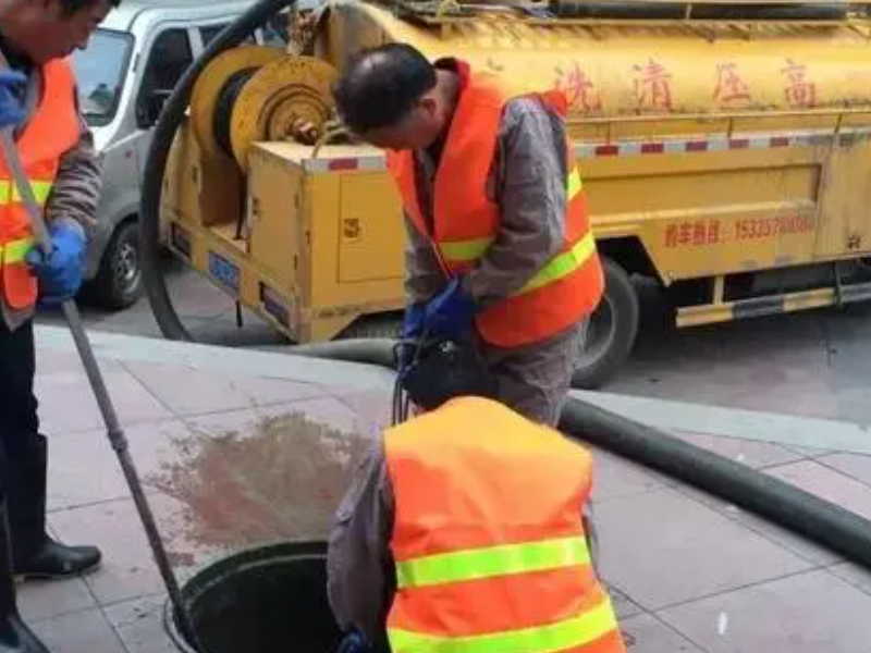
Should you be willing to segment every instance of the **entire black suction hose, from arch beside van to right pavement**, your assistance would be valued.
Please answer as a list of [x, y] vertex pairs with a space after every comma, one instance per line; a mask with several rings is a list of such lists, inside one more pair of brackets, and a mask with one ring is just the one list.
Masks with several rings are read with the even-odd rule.
[[[160, 196], [172, 139], [187, 109], [194, 82], [206, 64], [223, 50], [238, 45], [269, 16], [294, 1], [260, 0], [221, 32], [184, 74], [157, 123], [143, 182], [139, 242], [148, 298], [168, 338], [192, 340], [172, 306], [159, 264]], [[290, 350], [303, 356], [393, 368], [393, 347], [394, 342], [388, 340], [347, 340], [303, 345]], [[716, 494], [871, 568], [871, 522], [841, 506], [576, 398], [566, 403], [561, 428], [571, 438]]]

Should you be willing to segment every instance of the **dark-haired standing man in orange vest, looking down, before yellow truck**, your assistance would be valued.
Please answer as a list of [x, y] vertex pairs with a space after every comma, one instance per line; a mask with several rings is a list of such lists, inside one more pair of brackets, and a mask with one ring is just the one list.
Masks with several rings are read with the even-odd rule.
[[477, 343], [499, 398], [555, 426], [603, 288], [565, 97], [507, 98], [463, 61], [364, 51], [334, 90], [345, 124], [392, 150], [408, 226], [403, 335]]

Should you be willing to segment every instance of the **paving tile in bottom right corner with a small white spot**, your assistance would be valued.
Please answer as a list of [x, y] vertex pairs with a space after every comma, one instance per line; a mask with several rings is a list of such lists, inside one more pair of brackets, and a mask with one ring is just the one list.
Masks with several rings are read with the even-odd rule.
[[871, 596], [813, 570], [658, 613], [711, 653], [867, 653]]

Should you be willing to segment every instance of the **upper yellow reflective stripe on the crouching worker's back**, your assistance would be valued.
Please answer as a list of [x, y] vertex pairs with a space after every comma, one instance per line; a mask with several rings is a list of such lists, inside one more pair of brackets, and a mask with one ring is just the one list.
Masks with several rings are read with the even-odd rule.
[[500, 544], [396, 563], [396, 584], [401, 589], [420, 588], [589, 563], [590, 552], [582, 537]]

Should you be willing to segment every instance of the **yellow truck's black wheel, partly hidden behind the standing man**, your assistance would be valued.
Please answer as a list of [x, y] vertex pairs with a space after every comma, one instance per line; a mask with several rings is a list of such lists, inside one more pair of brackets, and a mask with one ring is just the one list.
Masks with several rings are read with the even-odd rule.
[[631, 352], [638, 333], [638, 295], [626, 271], [602, 258], [605, 292], [590, 316], [587, 337], [572, 378], [574, 387], [596, 390], [608, 382]]

